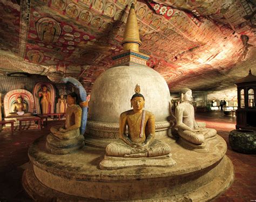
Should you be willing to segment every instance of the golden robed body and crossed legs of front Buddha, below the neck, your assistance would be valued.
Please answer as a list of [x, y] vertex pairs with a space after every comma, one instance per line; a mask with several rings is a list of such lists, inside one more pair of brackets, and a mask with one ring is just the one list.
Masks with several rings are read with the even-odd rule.
[[[154, 115], [146, 110], [144, 113], [143, 117], [143, 112], [134, 113], [133, 110], [129, 110], [120, 115], [119, 135], [122, 140], [107, 145], [107, 156], [158, 157], [170, 154], [171, 147], [168, 144], [154, 140]], [[126, 126], [128, 126], [127, 135]], [[136, 147], [136, 145], [143, 145], [145, 142], [149, 142], [149, 146]]]

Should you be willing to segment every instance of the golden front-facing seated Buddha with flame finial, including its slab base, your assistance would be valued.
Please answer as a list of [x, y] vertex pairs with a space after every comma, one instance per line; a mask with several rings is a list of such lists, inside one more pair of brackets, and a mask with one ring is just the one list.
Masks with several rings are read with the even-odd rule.
[[[171, 159], [171, 147], [169, 144], [155, 139], [155, 124], [154, 115], [143, 109], [145, 99], [140, 94], [140, 87], [137, 85], [135, 94], [131, 98], [132, 110], [123, 112], [119, 120], [119, 141], [110, 143], [106, 147], [106, 155], [104, 160], [100, 163], [100, 169], [118, 169], [127, 168], [124, 161], [120, 166], [112, 166], [111, 161], [118, 161], [117, 159], [110, 159], [109, 157], [120, 158], [147, 158], [147, 157], [166, 157], [168, 162], [165, 165], [162, 163], [153, 163], [154, 166], [171, 166], [175, 162]], [[128, 134], [126, 134], [126, 126], [128, 127]], [[157, 159], [157, 158], [156, 158]], [[163, 159], [162, 159], [163, 160]], [[158, 165], [157, 165], [158, 164]], [[137, 166], [135, 163], [134, 165]], [[130, 165], [129, 165], [130, 166]], [[152, 166], [152, 165], [151, 165]]]

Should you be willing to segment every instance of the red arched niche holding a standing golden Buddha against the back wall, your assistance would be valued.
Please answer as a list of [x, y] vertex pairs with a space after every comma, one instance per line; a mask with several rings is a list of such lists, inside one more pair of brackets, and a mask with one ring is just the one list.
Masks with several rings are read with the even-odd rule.
[[55, 87], [51, 83], [38, 82], [33, 88], [37, 114], [55, 113]]

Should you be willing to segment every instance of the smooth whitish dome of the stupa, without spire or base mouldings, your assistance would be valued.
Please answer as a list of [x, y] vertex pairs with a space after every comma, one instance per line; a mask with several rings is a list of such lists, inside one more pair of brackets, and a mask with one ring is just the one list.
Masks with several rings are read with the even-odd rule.
[[145, 97], [145, 110], [156, 122], [170, 115], [170, 92], [164, 78], [150, 67], [118, 66], [107, 69], [95, 81], [89, 106], [89, 121], [119, 123], [122, 112], [132, 109], [130, 99], [136, 84]]

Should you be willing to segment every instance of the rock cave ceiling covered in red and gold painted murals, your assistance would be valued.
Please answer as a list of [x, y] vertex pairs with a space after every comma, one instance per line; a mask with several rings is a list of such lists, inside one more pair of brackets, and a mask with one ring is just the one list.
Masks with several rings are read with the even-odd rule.
[[[0, 74], [26, 72], [55, 81], [73, 76], [90, 92], [123, 50], [130, 0], [0, 0]], [[171, 92], [233, 86], [256, 74], [255, 0], [137, 1], [147, 65]]]

